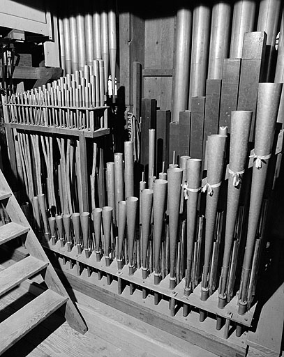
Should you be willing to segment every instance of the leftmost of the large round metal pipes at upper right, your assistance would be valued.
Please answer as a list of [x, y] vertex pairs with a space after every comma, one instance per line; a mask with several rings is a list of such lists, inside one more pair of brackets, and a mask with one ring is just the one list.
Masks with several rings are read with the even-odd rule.
[[188, 6], [181, 6], [177, 10], [171, 121], [179, 121], [179, 112], [185, 110], [188, 105], [192, 17], [192, 11]]

